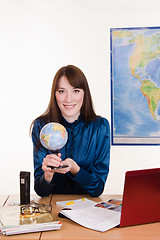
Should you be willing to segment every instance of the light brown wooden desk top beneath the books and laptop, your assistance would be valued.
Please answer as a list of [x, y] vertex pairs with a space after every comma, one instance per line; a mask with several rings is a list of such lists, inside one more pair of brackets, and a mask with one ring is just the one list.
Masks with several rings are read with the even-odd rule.
[[[40, 198], [35, 196], [35, 201], [39, 203], [53, 205], [54, 214], [58, 214], [61, 210], [60, 206], [56, 205], [57, 201], [78, 199], [78, 198], [89, 198], [93, 201], [108, 201], [111, 198], [120, 199], [119, 195], [101, 195], [98, 198], [90, 198], [88, 195], [53, 195], [49, 197]], [[0, 204], [6, 205], [10, 201], [16, 201], [18, 196], [1, 196]], [[57, 240], [91, 240], [91, 239], [110, 239], [110, 240], [160, 240], [160, 222], [152, 224], [144, 224], [139, 226], [132, 226], [126, 228], [113, 228], [104, 233], [97, 232], [94, 230], [82, 227], [69, 219], [60, 218], [62, 223], [62, 228], [57, 231], [48, 231], [42, 233], [29, 233], [14, 236], [2, 236], [0, 235], [0, 240], [4, 239], [57, 239]]]

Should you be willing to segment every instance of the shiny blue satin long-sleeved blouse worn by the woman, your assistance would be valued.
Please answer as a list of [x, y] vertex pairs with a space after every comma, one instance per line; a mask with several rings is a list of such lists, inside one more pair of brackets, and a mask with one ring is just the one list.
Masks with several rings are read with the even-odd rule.
[[[70, 172], [55, 173], [51, 183], [44, 179], [43, 158], [51, 152], [45, 149], [39, 140], [39, 133], [45, 123], [38, 119], [32, 130], [34, 155], [34, 188], [39, 196], [50, 194], [89, 194], [97, 197], [102, 194], [109, 172], [110, 162], [110, 127], [108, 120], [97, 117], [88, 125], [80, 116], [73, 123], [64, 118], [61, 124], [68, 131], [68, 141], [60, 149], [62, 160], [72, 158], [80, 170], [76, 176]], [[37, 149], [37, 146], [38, 147]]]

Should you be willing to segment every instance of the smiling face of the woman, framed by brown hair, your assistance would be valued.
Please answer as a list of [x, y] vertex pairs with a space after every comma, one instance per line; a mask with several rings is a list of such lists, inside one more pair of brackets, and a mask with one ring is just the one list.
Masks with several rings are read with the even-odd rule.
[[68, 122], [74, 122], [80, 115], [80, 110], [84, 99], [84, 90], [74, 88], [65, 76], [59, 80], [59, 86], [55, 93], [58, 107], [62, 116]]

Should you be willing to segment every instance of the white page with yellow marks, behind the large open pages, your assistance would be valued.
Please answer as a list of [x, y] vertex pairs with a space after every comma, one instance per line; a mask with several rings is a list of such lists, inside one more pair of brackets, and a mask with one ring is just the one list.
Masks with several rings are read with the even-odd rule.
[[87, 198], [81, 198], [76, 200], [60, 201], [60, 202], [56, 202], [56, 204], [63, 208], [82, 209], [82, 208], [94, 206], [96, 202], [89, 200]]

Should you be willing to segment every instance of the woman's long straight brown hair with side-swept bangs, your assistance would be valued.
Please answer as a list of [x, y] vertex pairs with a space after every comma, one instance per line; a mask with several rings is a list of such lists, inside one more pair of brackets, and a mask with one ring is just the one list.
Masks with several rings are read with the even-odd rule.
[[[68, 80], [68, 82], [73, 86], [74, 88], [80, 88], [84, 90], [84, 99], [83, 99], [83, 104], [81, 107], [81, 115], [83, 120], [86, 123], [91, 122], [93, 119], [96, 118], [96, 114], [93, 108], [93, 102], [92, 102], [92, 97], [91, 93], [89, 90], [88, 82], [87, 79], [84, 75], [84, 73], [77, 67], [73, 65], [68, 65], [65, 67], [60, 68], [54, 79], [53, 79], [53, 84], [52, 84], [52, 89], [51, 89], [51, 97], [50, 101], [48, 104], [48, 107], [46, 111], [39, 116], [38, 118], [43, 119], [46, 123], [47, 122], [58, 122], [60, 123], [61, 119], [61, 111], [57, 105], [55, 93], [58, 89], [59, 85], [59, 80], [62, 76], [65, 76]], [[34, 122], [38, 119], [36, 118], [32, 124], [31, 128], [34, 124]]]

